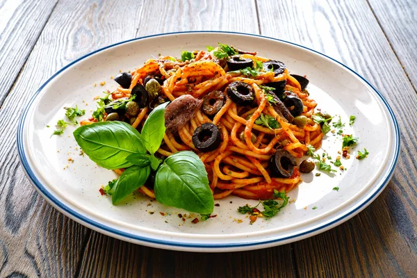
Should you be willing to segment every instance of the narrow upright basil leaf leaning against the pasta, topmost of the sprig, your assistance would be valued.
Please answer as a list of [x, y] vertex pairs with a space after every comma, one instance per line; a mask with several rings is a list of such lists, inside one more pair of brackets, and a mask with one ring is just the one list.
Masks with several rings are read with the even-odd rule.
[[163, 136], [165, 135], [164, 114], [167, 104], [169, 104], [169, 102], [156, 106], [154, 111], [152, 111], [149, 114], [149, 117], [147, 117], [145, 124], [143, 124], [141, 136], [142, 142], [147, 151], [151, 154], [155, 154], [155, 152], [159, 149]]

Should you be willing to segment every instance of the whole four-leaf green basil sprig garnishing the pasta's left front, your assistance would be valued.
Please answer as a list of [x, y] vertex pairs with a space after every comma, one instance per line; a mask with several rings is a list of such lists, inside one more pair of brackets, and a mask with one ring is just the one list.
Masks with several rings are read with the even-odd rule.
[[213, 213], [213, 194], [204, 163], [197, 154], [177, 152], [165, 161], [154, 156], [165, 135], [166, 106], [161, 104], [149, 114], [142, 134], [125, 122], [112, 121], [80, 126], [74, 131], [74, 138], [99, 166], [126, 168], [113, 187], [113, 204], [143, 186], [152, 168], [156, 170], [154, 188], [158, 202], [195, 213]]

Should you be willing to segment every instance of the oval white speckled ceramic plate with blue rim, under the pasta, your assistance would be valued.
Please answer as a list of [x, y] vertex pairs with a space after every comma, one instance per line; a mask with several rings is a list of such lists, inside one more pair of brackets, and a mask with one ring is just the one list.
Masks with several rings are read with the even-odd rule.
[[[254, 224], [236, 209], [254, 200], [227, 197], [215, 203], [211, 218], [193, 224], [186, 211], [149, 202], [136, 195], [131, 202], [112, 206], [99, 185], [115, 174], [79, 156], [69, 126], [63, 136], [52, 136], [65, 106], [95, 109], [93, 98], [116, 88], [110, 76], [139, 67], [151, 56], [181, 55], [181, 50], [204, 49], [217, 42], [256, 50], [260, 56], [281, 60], [294, 74], [306, 74], [309, 92], [318, 107], [341, 115], [345, 133], [359, 137], [347, 170], [334, 177], [303, 175], [304, 182], [288, 193], [295, 201], [275, 218]], [[99, 85], [106, 81], [106, 85]], [[97, 87], [94, 85], [97, 83]], [[349, 116], [357, 117], [349, 126]], [[337, 118], [336, 118], [337, 119]], [[47, 127], [47, 125], [51, 127]], [[335, 227], [368, 206], [388, 183], [398, 158], [400, 137], [391, 108], [380, 93], [345, 65], [297, 44], [259, 35], [222, 32], [188, 32], [154, 35], [105, 47], [79, 58], [54, 74], [29, 101], [17, 133], [19, 156], [33, 186], [58, 211], [101, 233], [133, 243], [172, 250], [224, 252], [253, 250], [290, 243]], [[366, 147], [368, 158], [358, 161], [357, 150]], [[325, 137], [322, 145], [335, 158], [340, 136]], [[322, 149], [318, 151], [322, 154]], [[69, 163], [68, 158], [74, 159]], [[68, 165], [68, 167], [67, 167]], [[65, 169], [64, 169], [65, 168]], [[340, 188], [338, 191], [334, 187]], [[316, 207], [316, 208], [314, 208]], [[314, 209], [313, 209], [314, 208]], [[160, 212], [166, 213], [163, 216]], [[153, 214], [152, 214], [153, 213]], [[186, 222], [178, 213], [187, 214]], [[242, 220], [242, 222], [240, 222]]]

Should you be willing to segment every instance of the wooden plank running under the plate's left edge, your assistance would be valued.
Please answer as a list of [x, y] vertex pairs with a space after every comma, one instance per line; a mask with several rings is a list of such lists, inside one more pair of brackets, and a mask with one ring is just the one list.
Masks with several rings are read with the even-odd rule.
[[60, 1], [4, 101], [0, 111], [0, 277], [76, 275], [91, 231], [58, 213], [29, 184], [15, 147], [17, 117], [27, 99], [60, 67], [99, 47], [134, 38], [141, 9], [138, 1], [125, 5], [116, 0]]

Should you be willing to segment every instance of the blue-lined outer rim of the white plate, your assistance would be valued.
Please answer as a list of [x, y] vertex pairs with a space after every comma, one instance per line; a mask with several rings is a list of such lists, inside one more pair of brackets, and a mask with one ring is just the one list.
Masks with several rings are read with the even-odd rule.
[[[95, 220], [91, 220], [90, 218], [85, 217], [81, 213], [78, 213], [78, 212], [74, 211], [72, 208], [69, 208], [65, 204], [61, 203], [58, 199], [56, 199], [53, 195], [51, 195], [49, 193], [49, 191], [47, 191], [44, 188], [42, 183], [35, 176], [31, 167], [29, 167], [28, 160], [27, 160], [26, 154], [24, 152], [24, 144], [23, 144], [23, 142], [24, 142], [24, 140], [23, 140], [23, 135], [24, 135], [23, 124], [24, 124], [24, 121], [26, 119], [26, 114], [28, 113], [28, 110], [31, 107], [31, 104], [36, 99], [36, 97], [38, 97], [39, 93], [43, 90], [43, 88], [49, 82], [54, 80], [55, 77], [58, 76], [58, 74], [65, 71], [68, 67], [71, 67], [75, 63], [78, 63], [80, 60], [83, 60], [83, 59], [85, 59], [89, 56], [92, 56], [93, 54], [96, 54], [100, 51], [104, 51], [105, 49], [109, 49], [111, 47], [115, 47], [115, 46], [120, 45], [120, 44], [126, 44], [128, 42], [133, 42], [133, 41], [136, 41], [136, 40], [142, 40], [142, 39], [145, 39], [145, 38], [153, 38], [153, 37], [158, 37], [158, 36], [163, 36], [163, 35], [187, 34], [187, 33], [222, 33], [222, 34], [233, 34], [233, 35], [249, 35], [249, 36], [258, 37], [258, 38], [266, 38], [266, 39], [270, 39], [270, 40], [276, 40], [276, 41], [279, 41], [279, 42], [285, 42], [287, 44], [292, 44], [292, 45], [295, 45], [297, 47], [301, 47], [303, 49], [307, 49], [307, 50], [312, 51], [316, 54], [324, 56], [324, 57], [334, 61], [338, 65], [341, 65], [346, 70], [352, 72], [353, 74], [358, 76], [362, 81], [364, 81], [370, 88], [372, 88], [374, 90], [376, 95], [382, 100], [382, 103], [386, 106], [386, 109], [389, 112], [389, 115], [391, 116], [391, 120], [393, 122], [393, 128], [394, 128], [394, 131], [395, 131], [395, 140], [398, 142], [397, 145], [395, 145], [395, 153], [394, 153], [395, 159], [391, 162], [391, 165], [389, 165], [389, 171], [386, 171], [386, 172], [388, 172], [388, 174], [386, 174], [386, 177], [385, 177], [384, 181], [379, 183], [379, 185], [377, 186], [377, 190], [375, 190], [375, 193], [373, 193], [373, 195], [370, 195], [370, 197], [368, 197], [368, 199], [366, 199], [365, 201], [361, 202], [361, 204], [356, 206], [352, 211], [348, 211], [347, 213], [343, 213], [342, 215], [339, 215], [339, 217], [336, 218], [335, 220], [332, 220], [332, 222], [328, 222], [327, 224], [323, 224], [320, 227], [316, 227], [314, 229], [309, 229], [307, 231], [303, 231], [301, 233], [297, 233], [297, 234], [294, 234], [292, 236], [286, 236], [284, 238], [272, 238], [270, 240], [256, 240], [256, 241], [246, 242], [246, 243], [216, 243], [216, 244], [178, 243], [178, 242], [175, 242], [175, 241], [158, 240], [158, 239], [154, 239], [154, 238], [147, 238], [147, 237], [144, 237], [144, 236], [138, 236], [136, 234], [126, 233], [124, 231], [120, 231], [120, 230], [114, 229], [112, 227], [108, 227], [104, 224], [101, 224], [101, 223], [95, 221]], [[163, 247], [164, 245], [168, 245], [168, 246], [172, 246], [172, 247], [193, 248], [193, 249], [197, 249], [197, 250], [202, 249], [202, 248], [210, 248], [211, 250], [215, 250], [215, 249], [220, 249], [220, 248], [236, 248], [236, 247], [248, 247], [248, 246], [254, 246], [254, 245], [268, 245], [268, 244], [271, 244], [271, 243], [280, 243], [280, 242], [283, 242], [285, 240], [291, 240], [291, 239], [301, 238], [301, 237], [308, 237], [309, 235], [313, 236], [313, 235], [315, 235], [315, 234], [313, 234], [315, 232], [320, 233], [322, 231], [326, 231], [327, 229], [330, 229], [336, 223], [341, 224], [341, 222], [344, 222], [345, 220], [348, 220], [348, 219], [352, 218], [354, 215], [359, 213], [364, 207], [366, 207], [368, 205], [368, 203], [373, 201], [373, 199], [375, 199], [377, 197], [377, 195], [379, 195], [379, 193], [381, 193], [382, 190], [384, 190], [386, 184], [389, 183], [389, 180], [391, 179], [391, 177], [393, 175], [393, 171], [395, 169], [395, 166], [398, 163], [398, 156], [399, 156], [399, 151], [400, 151], [400, 131], [399, 131], [399, 127], [398, 127], [398, 122], [395, 118], [395, 115], [394, 115], [391, 107], [389, 106], [388, 102], [384, 99], [382, 94], [375, 88], [375, 86], [373, 86], [369, 81], [367, 81], [365, 78], [363, 78], [363, 76], [361, 76], [360, 74], [358, 74], [357, 72], [352, 70], [350, 67], [347, 67], [347, 65], [344, 65], [343, 63], [338, 62], [338, 60], [335, 60], [334, 58], [331, 58], [331, 57], [329, 57], [325, 54], [322, 54], [319, 51], [316, 51], [314, 49], [310, 49], [309, 47], [304, 47], [304, 46], [302, 46], [300, 44], [296, 44], [294, 42], [288, 42], [286, 40], [280, 40], [280, 39], [268, 37], [268, 36], [265, 36], [265, 35], [256, 35], [256, 34], [239, 33], [239, 32], [229, 32], [229, 31], [182, 31], [182, 32], [172, 32], [172, 33], [159, 33], [159, 34], [156, 34], [156, 35], [146, 35], [146, 36], [143, 36], [143, 37], [140, 37], [140, 38], [133, 38], [131, 40], [124, 40], [122, 42], [117, 42], [115, 44], [110, 44], [106, 47], [102, 47], [101, 49], [97, 49], [97, 50], [92, 51], [88, 54], [85, 54], [84, 56], [81, 56], [80, 58], [74, 60], [73, 62], [65, 65], [65, 67], [58, 70], [58, 72], [56, 72], [54, 75], [52, 75], [46, 82], [44, 82], [40, 86], [40, 88], [35, 92], [33, 97], [31, 97], [31, 99], [28, 101], [28, 104], [26, 104], [26, 107], [24, 108], [24, 111], [22, 112], [22, 115], [19, 118], [18, 127], [17, 127], [17, 150], [18, 150], [18, 154], [19, 154], [19, 160], [22, 163], [23, 168], [24, 168], [24, 172], [26, 173], [26, 176], [31, 181], [33, 186], [35, 186], [35, 188], [41, 193], [42, 197], [47, 199], [47, 201], [49, 201], [50, 204], [53, 204], [54, 206], [56, 206], [56, 208], [59, 208], [60, 211], [65, 211], [65, 213], [70, 215], [72, 219], [80, 220], [82, 222], [82, 224], [87, 224], [88, 226], [92, 227], [93, 229], [96, 228], [98, 231], [104, 231], [104, 232], [106, 232], [106, 234], [113, 234], [113, 235], [118, 236], [119, 238], [127, 238], [127, 239], [130, 239], [130, 240], [139, 240], [139, 241], [142, 241], [144, 243], [156, 244], [159, 247]], [[318, 234], [318, 233], [316, 233], [316, 234]], [[295, 240], [292, 240], [292, 241], [295, 241]]]

